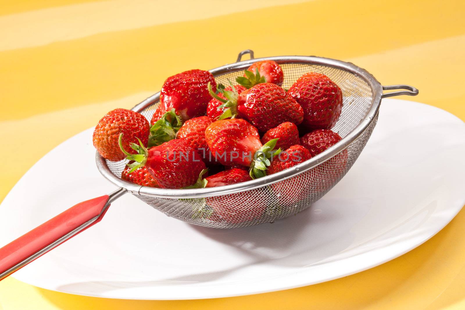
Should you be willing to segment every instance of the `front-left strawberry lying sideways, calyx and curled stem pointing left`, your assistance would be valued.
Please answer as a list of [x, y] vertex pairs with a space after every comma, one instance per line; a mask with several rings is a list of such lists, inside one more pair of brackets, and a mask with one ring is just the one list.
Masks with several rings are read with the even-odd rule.
[[[120, 141], [123, 134], [120, 135]], [[198, 188], [204, 187], [202, 180], [206, 173], [206, 167], [197, 151], [185, 140], [174, 139], [149, 150], [139, 142], [139, 145], [131, 143], [131, 148], [137, 152], [133, 155], [120, 144], [121, 151], [126, 159], [133, 160], [128, 164], [131, 168], [128, 173], [133, 173], [140, 167], [146, 167], [161, 188]]]

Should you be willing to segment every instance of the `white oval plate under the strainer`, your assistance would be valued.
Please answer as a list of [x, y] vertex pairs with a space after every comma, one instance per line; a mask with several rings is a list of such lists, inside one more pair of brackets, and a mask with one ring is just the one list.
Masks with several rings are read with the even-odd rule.
[[[0, 208], [0, 245], [115, 189], [95, 167], [91, 135], [57, 146], [14, 186]], [[128, 299], [237, 296], [344, 277], [412, 250], [449, 223], [465, 203], [464, 153], [460, 119], [383, 100], [349, 173], [294, 217], [218, 230], [168, 218], [127, 194], [101, 223], [13, 276], [49, 290]]]

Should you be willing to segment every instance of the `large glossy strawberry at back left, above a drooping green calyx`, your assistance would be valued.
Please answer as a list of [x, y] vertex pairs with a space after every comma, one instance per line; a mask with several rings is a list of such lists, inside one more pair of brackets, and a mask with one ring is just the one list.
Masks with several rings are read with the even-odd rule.
[[160, 110], [174, 108], [182, 120], [205, 115], [206, 106], [212, 99], [207, 84], [216, 91], [212, 73], [199, 69], [178, 73], [166, 79], [160, 92]]

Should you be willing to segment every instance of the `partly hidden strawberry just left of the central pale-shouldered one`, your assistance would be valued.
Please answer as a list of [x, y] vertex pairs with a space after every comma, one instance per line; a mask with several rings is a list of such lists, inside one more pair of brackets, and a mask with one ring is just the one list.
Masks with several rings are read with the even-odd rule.
[[177, 139], [186, 140], [189, 145], [199, 152], [206, 163], [209, 161], [209, 158], [213, 159], [205, 140], [205, 130], [212, 122], [212, 119], [208, 116], [199, 116], [189, 119], [182, 125], [176, 136]]

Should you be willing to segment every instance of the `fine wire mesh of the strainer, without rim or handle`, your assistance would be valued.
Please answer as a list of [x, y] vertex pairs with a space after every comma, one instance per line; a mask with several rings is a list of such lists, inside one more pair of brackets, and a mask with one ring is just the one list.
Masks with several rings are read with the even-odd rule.
[[[289, 88], [302, 74], [318, 72], [326, 74], [342, 90], [344, 106], [341, 116], [332, 131], [345, 137], [361, 120], [365, 119], [372, 106], [372, 89], [364, 79], [330, 66], [309, 64], [283, 64], [284, 88]], [[238, 71], [216, 76], [216, 82], [229, 85], [244, 73]], [[141, 113], [151, 119], [158, 102], [147, 107]], [[230, 195], [209, 198], [174, 199], [156, 198], [134, 194], [153, 208], [167, 216], [190, 224], [215, 228], [244, 227], [294, 215], [313, 204], [326, 194], [352, 167], [376, 125], [378, 115], [368, 128], [354, 140], [343, 152], [315, 168], [295, 177], [258, 189]], [[107, 161], [110, 170], [117, 177], [126, 165], [126, 161]]]

